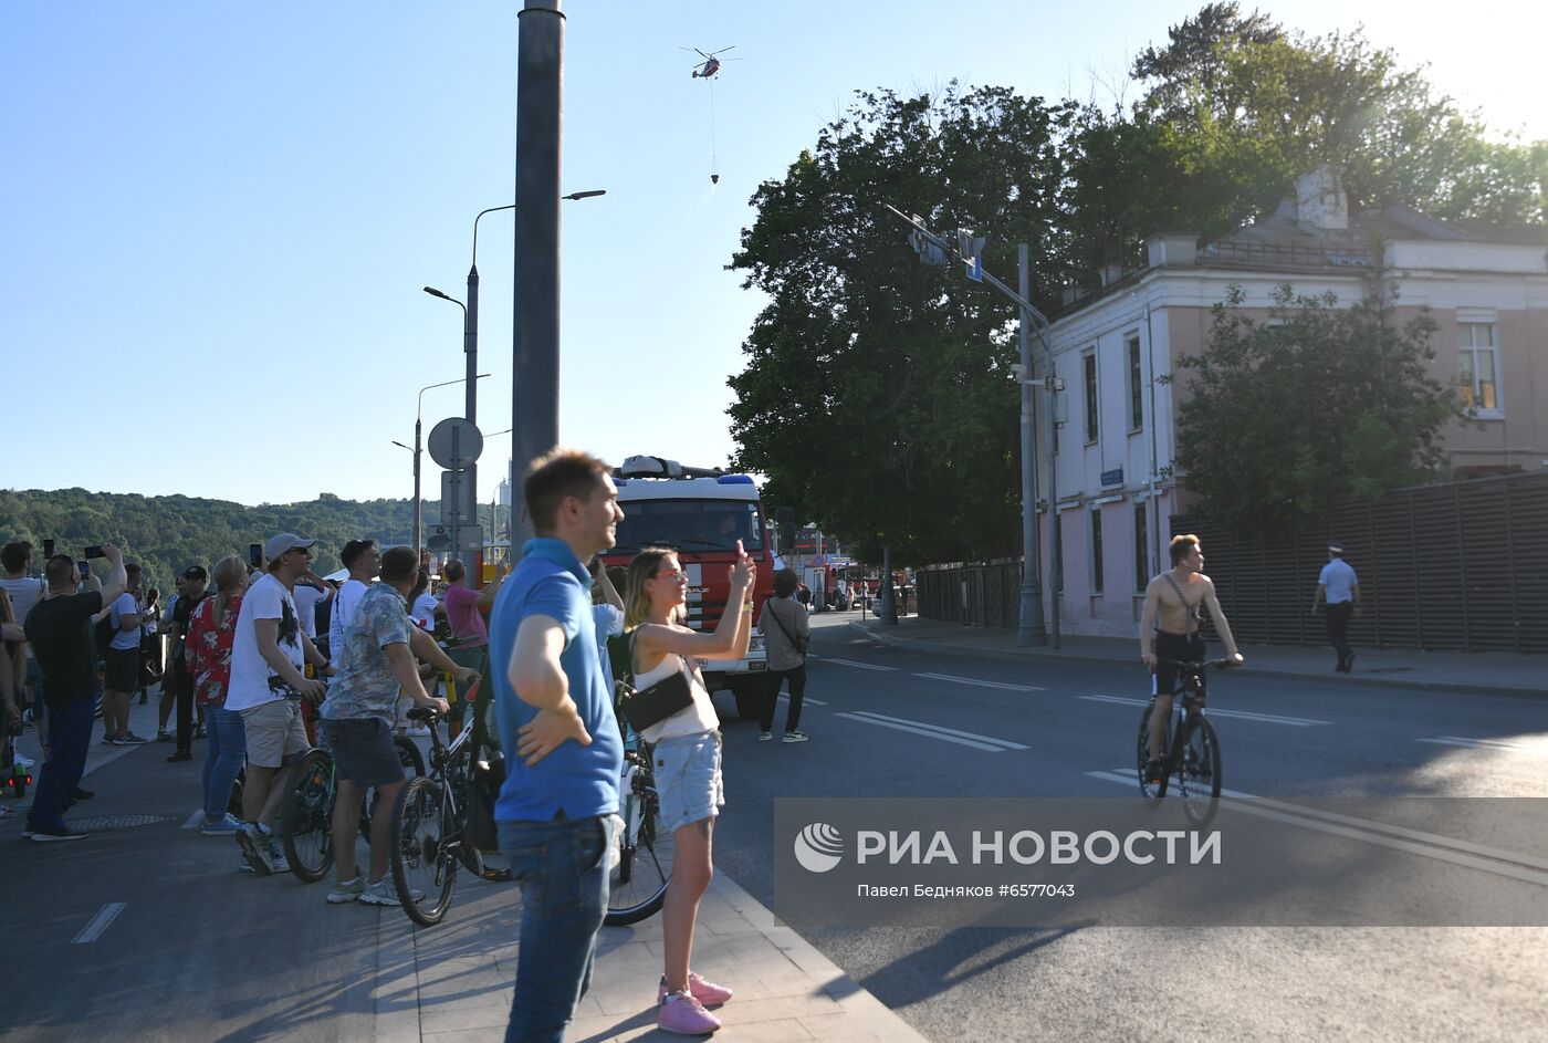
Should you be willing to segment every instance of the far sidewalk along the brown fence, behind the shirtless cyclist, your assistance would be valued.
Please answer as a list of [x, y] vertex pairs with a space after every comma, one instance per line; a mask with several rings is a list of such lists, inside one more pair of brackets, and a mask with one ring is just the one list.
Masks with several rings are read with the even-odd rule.
[[[850, 621], [850, 627], [885, 645], [935, 650], [949, 655], [989, 656], [995, 659], [1036, 659], [1062, 662], [1133, 662], [1139, 661], [1139, 642], [1132, 638], [1063, 636], [1060, 647], [1022, 647], [1015, 630], [998, 627], [964, 627], [907, 616], [896, 627], [882, 627], [875, 619]], [[1354, 684], [1373, 687], [1433, 689], [1440, 692], [1474, 692], [1483, 695], [1548, 696], [1548, 658], [1506, 651], [1412, 651], [1406, 648], [1356, 648], [1354, 670], [1334, 673], [1331, 648], [1302, 645], [1241, 645], [1246, 670], [1276, 678], [1297, 678], [1313, 682]], [[1214, 655], [1223, 655], [1211, 645]]]

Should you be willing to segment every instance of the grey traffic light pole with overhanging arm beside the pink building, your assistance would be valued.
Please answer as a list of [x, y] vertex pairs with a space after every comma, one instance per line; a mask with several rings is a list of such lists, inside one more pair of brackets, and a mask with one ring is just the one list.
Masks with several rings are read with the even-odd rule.
[[[1022, 591], [1020, 591], [1020, 621], [1015, 630], [1015, 644], [1019, 645], [1042, 645], [1048, 642], [1048, 636], [1043, 627], [1043, 597], [1039, 583], [1039, 574], [1042, 566], [1042, 548], [1037, 539], [1037, 469], [1036, 469], [1036, 449], [1033, 444], [1034, 430], [1034, 402], [1033, 388], [1042, 387], [1048, 392], [1048, 546], [1050, 546], [1050, 605], [1053, 607], [1053, 639], [1054, 647], [1059, 647], [1059, 591], [1054, 590], [1057, 583], [1053, 577], [1057, 576], [1054, 562], [1059, 560], [1059, 512], [1057, 512], [1057, 495], [1054, 486], [1054, 449], [1053, 449], [1053, 401], [1054, 395], [1060, 390], [1060, 382], [1054, 376], [1054, 353], [1053, 347], [1048, 344], [1048, 337], [1043, 330], [1048, 327], [1048, 317], [1039, 311], [1033, 302], [1028, 300], [1029, 283], [1031, 283], [1031, 266], [1028, 263], [1028, 248], [1026, 243], [1017, 246], [1017, 269], [1020, 288], [1011, 289], [1003, 282], [991, 275], [983, 268], [983, 260], [978, 255], [961, 257], [957, 249], [957, 243], [952, 243], [930, 229], [927, 229], [921, 221], [915, 220], [909, 214], [904, 214], [892, 204], [884, 204], [892, 214], [898, 215], [913, 229], [909, 237], [915, 249], [923, 246], [933, 246], [941, 251], [946, 257], [957, 255], [964, 265], [971, 268], [969, 277], [974, 282], [983, 282], [1002, 294], [1009, 297], [1022, 309], [1019, 342], [1020, 342], [1020, 364], [1014, 367], [1017, 370], [1015, 381], [1020, 385], [1022, 393]], [[980, 245], [981, 240], [974, 240], [972, 232], [961, 229], [958, 231], [957, 240], [960, 243]], [[1033, 379], [1033, 348], [1031, 339], [1028, 337], [1028, 325], [1031, 325], [1033, 333], [1043, 345], [1043, 354], [1046, 362], [1043, 365], [1043, 376]]]

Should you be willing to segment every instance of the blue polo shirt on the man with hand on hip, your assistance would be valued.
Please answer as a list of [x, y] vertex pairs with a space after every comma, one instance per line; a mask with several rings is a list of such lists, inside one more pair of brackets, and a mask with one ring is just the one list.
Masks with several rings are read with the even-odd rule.
[[[624, 771], [624, 743], [613, 716], [613, 689], [598, 653], [591, 619], [591, 576], [562, 540], [528, 540], [522, 563], [500, 586], [489, 616], [489, 656], [494, 675], [495, 724], [505, 749], [505, 786], [495, 802], [497, 822], [553, 822], [618, 812], [618, 783]], [[570, 678], [590, 746], [567, 740], [528, 768], [517, 755], [517, 730], [537, 716], [509, 681], [515, 631], [529, 616], [548, 616], [565, 633], [559, 664]]]

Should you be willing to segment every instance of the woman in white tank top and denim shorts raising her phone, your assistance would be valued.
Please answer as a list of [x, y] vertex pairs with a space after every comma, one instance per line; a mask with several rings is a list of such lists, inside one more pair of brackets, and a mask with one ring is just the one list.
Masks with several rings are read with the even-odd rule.
[[676, 859], [663, 908], [666, 967], [656, 1000], [658, 1024], [673, 1032], [714, 1032], [720, 1020], [706, 1006], [731, 998], [731, 989], [689, 969], [698, 904], [714, 876], [711, 837], [724, 803], [720, 783], [720, 718], [694, 658], [738, 659], [752, 630], [752, 559], [737, 542], [731, 591], [712, 633], [681, 624], [687, 574], [676, 552], [647, 548], [628, 565], [624, 627], [630, 633], [635, 687], [646, 689], [673, 670], [689, 675], [694, 703], [642, 732], [652, 746], [661, 825], [673, 831]]

